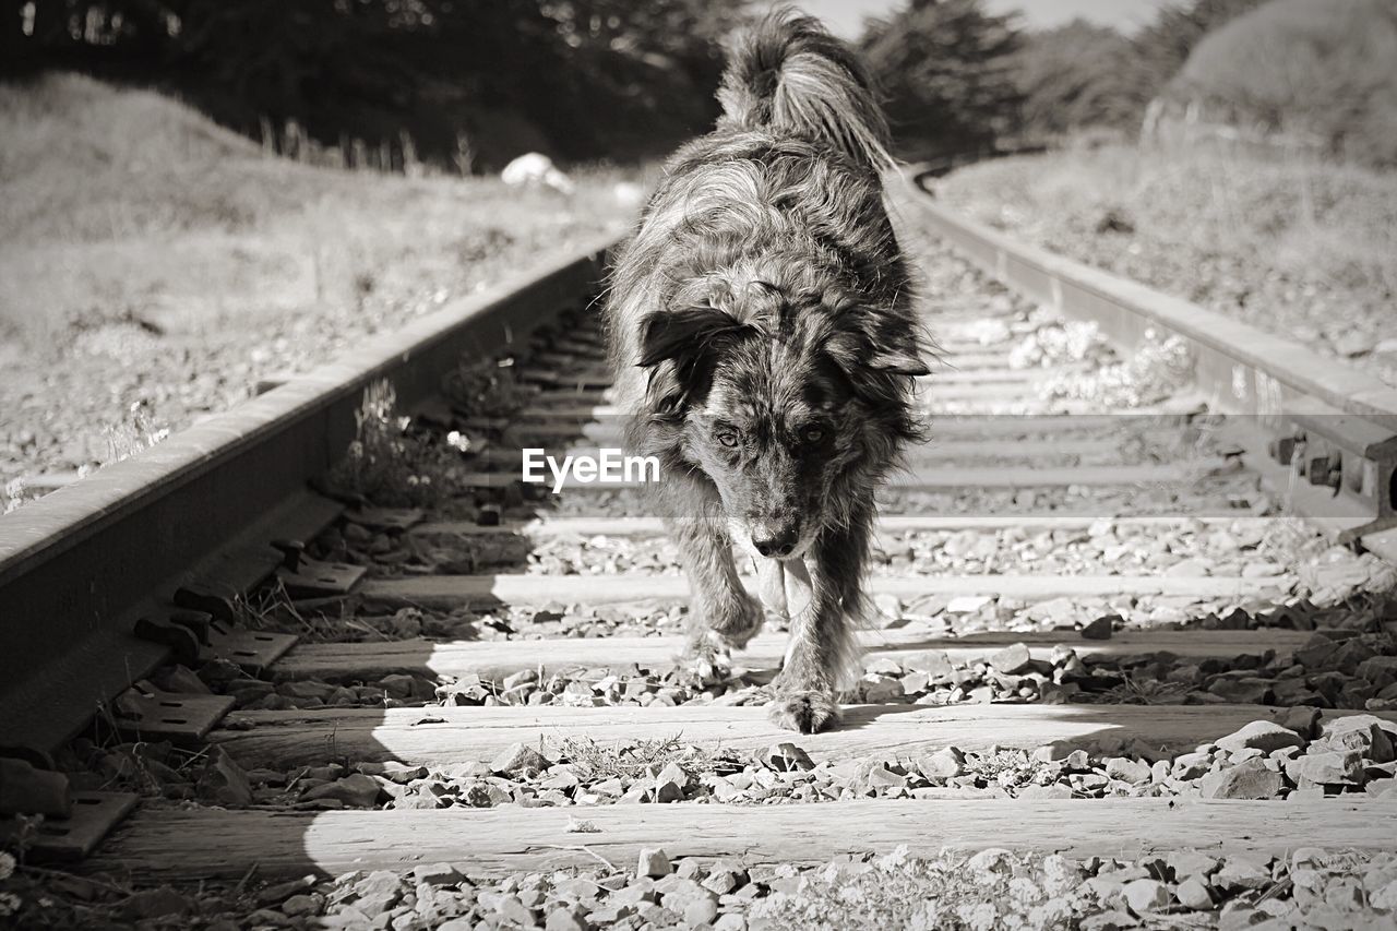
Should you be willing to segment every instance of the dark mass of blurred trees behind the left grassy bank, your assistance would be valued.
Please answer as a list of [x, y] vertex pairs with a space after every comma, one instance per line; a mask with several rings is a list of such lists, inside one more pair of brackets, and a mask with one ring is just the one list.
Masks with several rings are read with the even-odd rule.
[[[657, 155], [717, 115], [746, 0], [0, 0], [0, 74], [67, 68], [177, 92], [285, 154], [476, 169], [539, 148]], [[285, 129], [284, 129], [285, 127]]]

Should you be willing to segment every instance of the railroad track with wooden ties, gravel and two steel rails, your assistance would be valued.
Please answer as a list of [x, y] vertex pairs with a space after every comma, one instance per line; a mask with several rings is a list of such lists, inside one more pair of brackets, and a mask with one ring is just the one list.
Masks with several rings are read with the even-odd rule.
[[731, 677], [676, 664], [638, 482], [520, 482], [522, 447], [617, 445], [598, 246], [0, 520], [7, 804], [49, 812], [0, 825], [71, 871], [21, 872], [24, 907], [1390, 920], [1393, 391], [904, 214], [944, 362], [840, 727], [767, 721], [780, 619]]

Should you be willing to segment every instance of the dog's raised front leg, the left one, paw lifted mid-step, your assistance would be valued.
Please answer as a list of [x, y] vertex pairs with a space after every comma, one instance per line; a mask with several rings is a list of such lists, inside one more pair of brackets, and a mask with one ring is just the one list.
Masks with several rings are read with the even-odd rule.
[[738, 576], [718, 493], [690, 477], [666, 484], [666, 523], [693, 594], [686, 654], [707, 677], [715, 667], [726, 667], [731, 651], [745, 647], [761, 629], [761, 605]]

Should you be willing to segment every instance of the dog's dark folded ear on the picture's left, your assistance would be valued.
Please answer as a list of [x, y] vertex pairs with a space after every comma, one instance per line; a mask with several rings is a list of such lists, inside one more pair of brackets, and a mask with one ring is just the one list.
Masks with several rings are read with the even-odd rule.
[[[650, 391], [661, 411], [679, 411], [686, 403], [701, 400], [712, 386], [718, 358], [754, 333], [718, 308], [680, 308], [657, 310], [641, 320], [640, 362], [650, 369]], [[673, 375], [655, 369], [661, 362], [673, 363]]]

